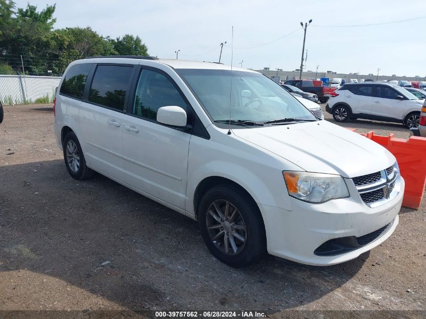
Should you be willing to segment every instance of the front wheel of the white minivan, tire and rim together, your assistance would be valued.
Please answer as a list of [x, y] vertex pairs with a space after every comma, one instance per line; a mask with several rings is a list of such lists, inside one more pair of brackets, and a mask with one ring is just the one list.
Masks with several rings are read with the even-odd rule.
[[228, 266], [250, 265], [266, 251], [259, 208], [235, 186], [217, 185], [208, 190], [200, 202], [198, 222], [210, 252]]

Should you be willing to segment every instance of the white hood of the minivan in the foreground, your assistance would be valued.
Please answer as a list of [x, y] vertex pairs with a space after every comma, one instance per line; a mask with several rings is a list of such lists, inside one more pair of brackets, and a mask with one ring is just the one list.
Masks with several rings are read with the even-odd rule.
[[352, 178], [386, 169], [396, 161], [376, 142], [325, 120], [232, 132], [309, 172]]

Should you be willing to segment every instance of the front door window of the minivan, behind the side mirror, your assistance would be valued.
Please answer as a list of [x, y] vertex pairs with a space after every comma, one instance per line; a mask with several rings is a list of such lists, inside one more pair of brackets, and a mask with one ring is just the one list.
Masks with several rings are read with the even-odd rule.
[[187, 110], [187, 103], [164, 75], [142, 70], [132, 113], [156, 120], [157, 111], [162, 106], [180, 106]]

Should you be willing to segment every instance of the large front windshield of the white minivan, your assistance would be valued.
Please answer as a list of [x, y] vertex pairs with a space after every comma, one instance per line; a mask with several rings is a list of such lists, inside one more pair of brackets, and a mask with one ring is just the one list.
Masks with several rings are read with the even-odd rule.
[[229, 115], [233, 121], [257, 123], [290, 118], [316, 120], [290, 93], [259, 73], [232, 71], [231, 77], [230, 70], [177, 69], [176, 72], [213, 121], [229, 120]]

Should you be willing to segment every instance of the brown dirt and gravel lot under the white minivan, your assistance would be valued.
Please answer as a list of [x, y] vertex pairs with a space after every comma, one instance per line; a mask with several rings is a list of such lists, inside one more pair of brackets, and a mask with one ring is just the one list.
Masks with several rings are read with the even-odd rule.
[[[418, 211], [403, 208], [395, 233], [354, 261], [311, 267], [268, 256], [231, 269], [212, 257], [189, 218], [101, 175], [72, 179], [52, 122], [51, 105], [5, 106], [0, 310], [65, 310], [44, 313], [58, 317], [71, 310], [82, 318], [109, 310], [123, 317], [159, 309], [262, 310], [270, 317], [294, 309], [425, 310], [426, 202]], [[400, 124], [345, 126], [408, 137]]]

